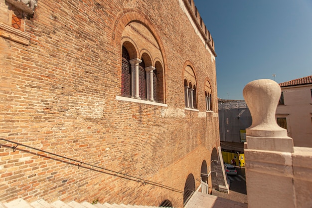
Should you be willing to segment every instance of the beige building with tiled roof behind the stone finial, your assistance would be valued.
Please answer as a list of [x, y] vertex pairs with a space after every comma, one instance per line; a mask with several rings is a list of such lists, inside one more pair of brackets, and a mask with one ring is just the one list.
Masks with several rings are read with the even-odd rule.
[[282, 95], [276, 111], [278, 124], [287, 129], [297, 147], [312, 147], [312, 76], [279, 84]]

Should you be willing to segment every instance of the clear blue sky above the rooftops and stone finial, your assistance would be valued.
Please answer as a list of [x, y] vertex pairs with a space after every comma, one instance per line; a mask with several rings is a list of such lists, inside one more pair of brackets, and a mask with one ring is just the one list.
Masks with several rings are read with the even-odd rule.
[[312, 75], [312, 0], [194, 0], [215, 42], [218, 97]]

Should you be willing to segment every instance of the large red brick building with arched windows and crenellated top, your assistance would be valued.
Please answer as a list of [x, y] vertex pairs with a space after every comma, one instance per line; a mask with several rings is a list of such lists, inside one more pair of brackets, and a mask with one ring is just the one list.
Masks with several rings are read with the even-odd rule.
[[224, 186], [215, 57], [192, 0], [0, 0], [0, 201]]

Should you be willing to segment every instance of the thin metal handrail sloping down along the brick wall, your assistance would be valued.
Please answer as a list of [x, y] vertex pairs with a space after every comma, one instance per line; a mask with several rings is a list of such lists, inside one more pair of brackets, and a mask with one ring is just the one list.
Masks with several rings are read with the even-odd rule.
[[[16, 150], [19, 150], [19, 151], [27, 152], [27, 153], [30, 153], [30, 154], [33, 154], [33, 155], [37, 155], [37, 156], [41, 156], [41, 157], [44, 157], [44, 158], [48, 158], [48, 159], [51, 159], [51, 160], [63, 162], [63, 163], [66, 163], [66, 164], [69, 164], [69, 165], [72, 165], [72, 166], [77, 166], [78, 168], [81, 167], [81, 168], [85, 168], [85, 169], [88, 169], [88, 170], [92, 170], [92, 171], [96, 171], [96, 172], [112, 175], [112, 176], [115, 176], [115, 177], [128, 179], [128, 180], [131, 180], [131, 181], [137, 181], [137, 182], [142, 183], [142, 185], [150, 184], [150, 185], [153, 185], [153, 186], [161, 187], [161, 188], [164, 188], [164, 189], [167, 189], [167, 190], [170, 190], [170, 191], [174, 191], [174, 192], [178, 192], [178, 193], [183, 194], [183, 192], [180, 191], [180, 190], [177, 190], [177, 189], [174, 189], [172, 187], [168, 187], [168, 186], [165, 186], [165, 185], [153, 182], [153, 181], [144, 180], [142, 178], [138, 178], [138, 177], [135, 177], [135, 176], [130, 176], [128, 174], [123, 174], [123, 173], [120, 173], [120, 172], [117, 172], [117, 171], [112, 171], [112, 170], [109, 170], [109, 169], [106, 169], [106, 168], [102, 168], [102, 167], [99, 167], [99, 166], [95, 166], [95, 165], [92, 165], [92, 164], [88, 164], [88, 163], [85, 163], [85, 162], [81, 162], [81, 161], [78, 161], [78, 160], [67, 158], [67, 157], [64, 157], [64, 156], [61, 156], [61, 155], [50, 153], [50, 152], [47, 152], [47, 151], [44, 151], [44, 150], [40, 150], [40, 149], [37, 149], [37, 148], [34, 148], [34, 147], [30, 147], [30, 146], [27, 146], [27, 145], [24, 145], [24, 144], [21, 144], [21, 143], [13, 142], [13, 141], [10, 141], [10, 140], [7, 140], [7, 139], [0, 138], [0, 140], [3, 140], [3, 141], [6, 141], [6, 142], [10, 142], [10, 143], [15, 144], [16, 145], [15, 147], [14, 146], [8, 146], [8, 145], [0, 144], [0, 148], [1, 147], [10, 148], [10, 149], [13, 149], [13, 152], [15, 152]], [[61, 159], [57, 159], [57, 158], [52, 158], [52, 157], [48, 157], [48, 156], [45, 156], [45, 155], [41, 155], [39, 153], [33, 153], [33, 152], [29, 152], [27, 150], [23, 150], [23, 149], [19, 149], [19, 148], [17, 149], [17, 146], [23, 146], [23, 147], [26, 147], [26, 148], [29, 148], [29, 149], [32, 149], [32, 150], [36, 150], [38, 152], [44, 152], [46, 154], [50, 154], [50, 155], [53, 155], [53, 156], [56, 156], [56, 157], [59, 157], [59, 158], [63, 158], [63, 159], [66, 159], [66, 160], [70, 160], [70, 161], [76, 162], [77, 164], [76, 163], [62, 161]], [[83, 165], [86, 165], [86, 166], [89, 166], [89, 167], [86, 167], [86, 166], [83, 166]], [[97, 168], [97, 169], [100, 169], [100, 170], [96, 170], [94, 168]]]

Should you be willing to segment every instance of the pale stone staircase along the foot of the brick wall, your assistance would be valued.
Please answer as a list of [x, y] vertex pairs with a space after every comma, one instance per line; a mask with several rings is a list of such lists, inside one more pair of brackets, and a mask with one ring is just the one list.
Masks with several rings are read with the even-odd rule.
[[0, 208], [156, 208], [151, 206], [138, 206], [138, 205], [117, 205], [117, 204], [95, 204], [92, 205], [88, 202], [78, 203], [72, 201], [70, 203], [64, 203], [62, 201], [56, 201], [51, 204], [47, 203], [44, 200], [38, 200], [32, 203], [27, 203], [22, 199], [17, 199], [9, 203], [0, 203]]

